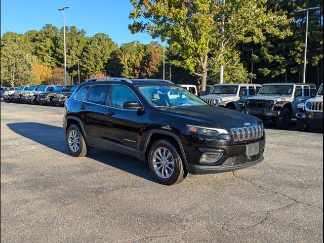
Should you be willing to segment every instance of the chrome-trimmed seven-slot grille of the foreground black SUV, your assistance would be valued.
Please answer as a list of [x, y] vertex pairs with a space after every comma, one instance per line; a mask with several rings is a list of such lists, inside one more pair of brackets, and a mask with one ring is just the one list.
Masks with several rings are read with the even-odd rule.
[[262, 125], [248, 126], [231, 129], [234, 142], [245, 142], [263, 137], [264, 128]]

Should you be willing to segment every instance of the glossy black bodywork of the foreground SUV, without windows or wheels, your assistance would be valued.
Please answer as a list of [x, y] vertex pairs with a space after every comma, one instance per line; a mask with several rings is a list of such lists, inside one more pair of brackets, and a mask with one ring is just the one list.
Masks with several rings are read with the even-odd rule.
[[[75, 98], [80, 89], [93, 85], [110, 85], [105, 104], [99, 105]], [[139, 99], [143, 110], [124, 110], [111, 107], [110, 92], [113, 85], [126, 86], [131, 89]], [[150, 80], [136, 81], [136, 79], [133, 84], [117, 81], [81, 84], [65, 103], [64, 132], [66, 133], [71, 124], [77, 124], [82, 129], [90, 147], [110, 149], [135, 156], [141, 160], [147, 159], [147, 152], [154, 140], [166, 136], [173, 138], [179, 145], [185, 168], [190, 174], [238, 170], [263, 160], [265, 133], [259, 118], [211, 105], [155, 108], [146, 101], [138, 89], [139, 86], [176, 85]], [[220, 128], [229, 132], [236, 128], [262, 127], [262, 135], [261, 130], [258, 130], [259, 136], [255, 138], [234, 141], [234, 134], [218, 137], [192, 134], [188, 131], [187, 125]], [[249, 135], [247, 136], [249, 137]], [[247, 146], [254, 143], [259, 144], [258, 156], [246, 156]], [[199, 158], [205, 152], [210, 151], [221, 151], [223, 156], [217, 163], [201, 164]], [[223, 165], [225, 162], [228, 164]]]

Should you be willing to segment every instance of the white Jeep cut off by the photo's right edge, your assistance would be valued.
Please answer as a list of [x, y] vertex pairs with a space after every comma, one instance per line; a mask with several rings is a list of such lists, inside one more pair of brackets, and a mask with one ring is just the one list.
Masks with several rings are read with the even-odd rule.
[[306, 132], [310, 124], [323, 126], [323, 85], [319, 87], [314, 98], [298, 104], [297, 107], [300, 109], [296, 113], [298, 131]]

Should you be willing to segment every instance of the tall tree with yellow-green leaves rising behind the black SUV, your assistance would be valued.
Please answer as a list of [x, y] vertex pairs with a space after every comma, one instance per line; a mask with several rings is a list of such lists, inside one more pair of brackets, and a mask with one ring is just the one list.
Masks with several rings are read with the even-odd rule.
[[175, 63], [199, 76], [203, 90], [208, 71], [223, 64], [224, 55], [235, 49], [238, 42], [259, 43], [266, 34], [279, 37], [290, 34], [285, 28], [290, 20], [267, 11], [266, 0], [231, 0], [225, 5], [215, 0], [131, 0], [131, 3], [135, 10], [130, 18], [140, 19], [129, 25], [131, 32], [148, 32], [153, 38], [168, 39], [182, 57], [181, 62]]

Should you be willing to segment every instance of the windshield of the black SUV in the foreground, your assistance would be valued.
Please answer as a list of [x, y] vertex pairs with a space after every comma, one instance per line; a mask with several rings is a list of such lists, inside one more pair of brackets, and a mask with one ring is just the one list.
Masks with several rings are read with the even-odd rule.
[[191, 92], [181, 87], [142, 86], [139, 91], [156, 108], [208, 105]]

